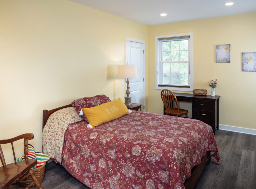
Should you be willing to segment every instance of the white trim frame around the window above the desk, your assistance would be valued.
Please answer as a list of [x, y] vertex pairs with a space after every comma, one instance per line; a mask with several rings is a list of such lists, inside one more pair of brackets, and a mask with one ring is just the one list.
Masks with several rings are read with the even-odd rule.
[[[158, 39], [159, 38], [167, 38], [167, 37], [178, 37], [178, 36], [185, 36], [189, 35], [189, 86], [190, 88], [185, 87], [167, 87], [167, 86], [158, 86], [158, 81], [160, 81], [160, 73], [159, 73], [159, 57], [158, 57]], [[179, 34], [170, 34], [170, 35], [158, 35], [155, 36], [155, 68], [156, 68], [156, 89], [169, 89], [173, 91], [193, 91], [193, 33], [179, 33]], [[159, 73], [159, 74], [158, 74]]]

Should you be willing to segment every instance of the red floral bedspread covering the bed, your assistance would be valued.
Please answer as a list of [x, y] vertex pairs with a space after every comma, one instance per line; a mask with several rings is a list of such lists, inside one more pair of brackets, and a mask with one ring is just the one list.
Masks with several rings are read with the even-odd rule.
[[220, 163], [211, 127], [201, 121], [133, 111], [88, 128], [70, 124], [62, 165], [92, 189], [184, 188], [206, 151]]

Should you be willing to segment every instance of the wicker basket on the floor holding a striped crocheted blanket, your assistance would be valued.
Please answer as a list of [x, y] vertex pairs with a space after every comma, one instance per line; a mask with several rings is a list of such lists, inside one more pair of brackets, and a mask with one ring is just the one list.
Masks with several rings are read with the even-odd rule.
[[[45, 165], [42, 165], [41, 167], [38, 167], [36, 169], [33, 169], [37, 179], [39, 180], [39, 182], [41, 183], [42, 180], [44, 179], [45, 177]], [[27, 180], [32, 180], [32, 177], [30, 176], [30, 174], [28, 172], [26, 172], [20, 179], [19, 181], [27, 181]], [[31, 182], [25, 182], [25, 183], [22, 183], [22, 186], [24, 187], [27, 187], [29, 186]], [[36, 186], [36, 184], [33, 184], [32, 186]]]

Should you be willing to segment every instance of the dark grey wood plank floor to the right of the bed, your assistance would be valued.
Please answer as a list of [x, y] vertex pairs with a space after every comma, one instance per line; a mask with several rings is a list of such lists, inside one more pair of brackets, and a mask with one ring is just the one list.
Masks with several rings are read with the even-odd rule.
[[256, 135], [223, 130], [215, 132], [220, 166], [211, 161], [194, 189], [256, 188]]

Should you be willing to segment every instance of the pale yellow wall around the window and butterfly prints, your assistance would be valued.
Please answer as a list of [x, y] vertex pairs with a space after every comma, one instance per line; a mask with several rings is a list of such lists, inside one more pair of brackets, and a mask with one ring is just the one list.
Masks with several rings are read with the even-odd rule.
[[[218, 79], [219, 124], [256, 129], [256, 72], [242, 71], [242, 52], [256, 52], [256, 12], [148, 27], [147, 111], [163, 114], [155, 89], [155, 36], [193, 32], [194, 89], [207, 89]], [[231, 63], [215, 63], [215, 45], [231, 44]], [[176, 91], [178, 92], [178, 91]], [[190, 110], [191, 104], [182, 108]]]

